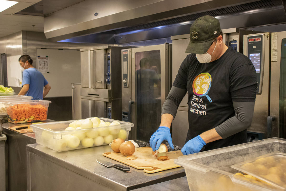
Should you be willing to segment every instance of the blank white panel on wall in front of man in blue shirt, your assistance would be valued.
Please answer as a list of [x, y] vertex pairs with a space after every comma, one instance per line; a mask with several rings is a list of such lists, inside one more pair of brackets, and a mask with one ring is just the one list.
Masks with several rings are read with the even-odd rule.
[[19, 64], [19, 58], [21, 55], [7, 56], [7, 80], [8, 87], [21, 87], [22, 84], [22, 72]]

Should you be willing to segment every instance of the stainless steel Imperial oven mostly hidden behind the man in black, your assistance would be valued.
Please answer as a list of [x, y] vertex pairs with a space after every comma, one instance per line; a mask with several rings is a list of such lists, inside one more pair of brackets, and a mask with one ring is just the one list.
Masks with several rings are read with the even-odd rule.
[[[234, 50], [243, 53], [243, 36], [246, 34], [259, 33], [239, 28], [222, 29], [223, 42], [231, 46]], [[171, 36], [172, 50], [172, 82], [174, 82], [182, 61], [189, 53], [185, 53], [186, 47], [190, 42], [190, 34]], [[183, 147], [188, 132], [188, 93], [182, 99], [175, 119], [172, 122], [172, 141], [175, 145]], [[184, 137], [182, 137], [184, 135]], [[260, 134], [259, 134], [260, 135]], [[255, 134], [256, 136], [256, 134]], [[257, 135], [258, 136], [258, 135]]]

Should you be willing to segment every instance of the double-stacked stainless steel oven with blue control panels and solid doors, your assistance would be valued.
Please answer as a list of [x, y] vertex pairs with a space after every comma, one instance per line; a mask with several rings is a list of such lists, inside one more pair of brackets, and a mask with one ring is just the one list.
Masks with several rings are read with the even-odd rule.
[[81, 49], [81, 117], [121, 120], [121, 50], [102, 46]]

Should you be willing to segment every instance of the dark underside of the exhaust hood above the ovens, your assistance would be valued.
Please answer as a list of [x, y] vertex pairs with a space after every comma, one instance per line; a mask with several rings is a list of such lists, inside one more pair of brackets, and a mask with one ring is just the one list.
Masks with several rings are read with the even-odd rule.
[[[204, 2], [204, 4], [201, 3], [199, 4], [199, 6], [201, 7], [207, 4], [208, 7], [216, 7], [218, 3], [218, 1], [216, 0], [205, 0]], [[253, 27], [259, 25], [269, 25], [273, 24], [273, 22], [286, 22], [286, 15], [281, 0], [260, 0], [253, 2], [245, 2], [247, 3], [231, 4], [231, 1], [229, 1], [228, 5], [225, 4], [225, 7], [220, 9], [212, 10], [209, 8], [204, 8], [205, 11], [192, 11], [189, 13], [189, 15], [184, 13], [178, 13], [183, 16], [174, 16], [173, 18], [170, 18], [170, 16], [167, 16], [166, 14], [165, 17], [169, 17], [170, 19], [165, 20], [162, 20], [154, 15], [149, 15], [149, 17], [154, 17], [153, 20], [157, 20], [155, 22], [145, 21], [144, 23], [142, 21], [142, 18], [137, 18], [131, 19], [130, 21], [132, 22], [126, 23], [126, 21], [129, 21], [127, 19], [121, 23], [116, 23], [114, 25], [114, 29], [108, 29], [108, 25], [103, 25], [101, 27], [90, 28], [87, 30], [82, 30], [65, 35], [57, 34], [55, 37], [49, 39], [61, 40], [64, 37], [67, 37], [68, 39], [61, 40], [61, 42], [90, 42], [104, 44], [124, 44], [132, 46], [133, 42], [145, 42], [156, 39], [161, 39], [162, 41], [164, 41], [170, 39], [170, 36], [188, 34], [192, 22], [195, 19], [204, 15], [211, 15], [217, 17], [221, 23], [222, 29], [233, 27]], [[194, 9], [194, 7], [190, 7], [188, 7], [188, 9]], [[106, 17], [106, 19], [108, 18], [109, 17]], [[273, 20], [273, 18], [275, 18], [275, 21]], [[142, 24], [134, 25], [134, 23]], [[75, 27], [75, 25], [73, 25], [73, 27]], [[55, 35], [56, 31], [65, 32], [67, 31], [67, 28], [68, 27], [51, 31], [50, 35], [52, 33]], [[94, 29], [98, 31], [94, 31]]]

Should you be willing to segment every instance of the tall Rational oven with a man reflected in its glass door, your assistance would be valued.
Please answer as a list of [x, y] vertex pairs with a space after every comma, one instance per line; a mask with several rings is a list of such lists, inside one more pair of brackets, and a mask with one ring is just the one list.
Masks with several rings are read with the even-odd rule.
[[170, 88], [171, 52], [172, 44], [121, 51], [122, 120], [134, 123], [130, 133], [136, 142], [149, 142], [160, 125]]

